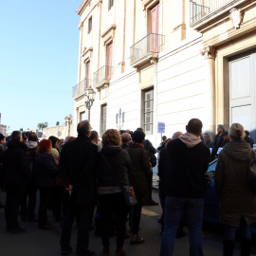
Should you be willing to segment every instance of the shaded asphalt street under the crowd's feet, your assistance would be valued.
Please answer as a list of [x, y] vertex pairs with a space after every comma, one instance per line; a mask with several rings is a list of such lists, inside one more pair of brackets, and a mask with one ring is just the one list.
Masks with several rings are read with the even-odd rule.
[[[158, 202], [157, 191], [154, 190], [153, 196]], [[2, 193], [4, 199], [5, 193]], [[3, 200], [4, 201], [4, 200]], [[150, 206], [143, 208], [140, 222], [139, 235], [144, 237], [145, 243], [136, 246], [130, 246], [129, 239], [125, 240], [124, 249], [127, 255], [133, 256], [157, 256], [160, 249], [160, 224], [157, 222], [161, 213], [160, 206]], [[53, 221], [51, 212], [48, 212], [49, 222], [53, 224], [54, 229], [37, 229], [37, 223], [21, 223], [21, 226], [27, 229], [23, 234], [9, 234], [5, 232], [4, 210], [0, 210], [0, 256], [58, 256], [61, 255], [59, 240], [61, 235], [61, 225]], [[128, 229], [128, 223], [127, 223]], [[72, 231], [71, 246], [76, 245], [76, 227]], [[189, 255], [189, 235], [185, 228], [186, 236], [175, 240], [174, 255]], [[204, 237], [204, 255], [216, 256], [222, 255], [223, 230], [215, 229], [213, 226], [205, 226], [203, 229]], [[255, 243], [254, 243], [255, 244]], [[90, 231], [91, 250], [100, 256], [102, 252], [101, 238], [95, 236], [95, 230]], [[234, 256], [239, 255], [239, 243], [237, 242]], [[116, 237], [111, 238], [111, 255], [115, 255]], [[75, 255], [71, 253], [70, 255]], [[253, 247], [251, 255], [256, 255], [256, 247]]]

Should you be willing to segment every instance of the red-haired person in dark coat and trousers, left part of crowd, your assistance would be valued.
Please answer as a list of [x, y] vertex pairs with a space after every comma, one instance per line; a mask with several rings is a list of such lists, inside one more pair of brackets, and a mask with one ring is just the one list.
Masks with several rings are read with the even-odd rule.
[[47, 222], [47, 208], [55, 187], [55, 177], [59, 174], [57, 162], [51, 154], [51, 140], [43, 139], [39, 143], [37, 161], [36, 186], [40, 191], [40, 205], [38, 210], [38, 228], [52, 229]]

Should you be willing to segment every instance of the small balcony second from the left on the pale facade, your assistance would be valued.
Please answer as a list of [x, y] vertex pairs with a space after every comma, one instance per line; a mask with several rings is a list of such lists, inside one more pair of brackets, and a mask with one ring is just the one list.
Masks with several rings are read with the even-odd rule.
[[108, 84], [112, 79], [114, 67], [103, 65], [99, 70], [93, 74], [93, 85], [97, 89], [101, 88], [104, 84]]

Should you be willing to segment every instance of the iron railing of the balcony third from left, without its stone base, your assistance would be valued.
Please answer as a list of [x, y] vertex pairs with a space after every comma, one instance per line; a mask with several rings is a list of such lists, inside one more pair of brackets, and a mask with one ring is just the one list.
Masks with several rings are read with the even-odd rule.
[[130, 64], [136, 63], [149, 53], [158, 53], [164, 49], [165, 36], [150, 33], [130, 47]]

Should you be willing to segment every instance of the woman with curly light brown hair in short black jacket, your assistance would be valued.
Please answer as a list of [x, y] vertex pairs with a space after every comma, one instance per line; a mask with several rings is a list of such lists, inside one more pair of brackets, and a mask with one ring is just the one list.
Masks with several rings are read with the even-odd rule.
[[121, 137], [118, 130], [109, 129], [102, 136], [102, 150], [99, 153], [98, 183], [99, 207], [101, 209], [101, 240], [103, 256], [109, 256], [109, 237], [114, 213], [117, 219], [116, 256], [125, 255], [122, 249], [125, 237], [126, 206], [119, 185], [129, 188], [128, 174], [132, 164], [127, 151], [121, 149]]

